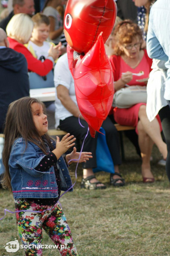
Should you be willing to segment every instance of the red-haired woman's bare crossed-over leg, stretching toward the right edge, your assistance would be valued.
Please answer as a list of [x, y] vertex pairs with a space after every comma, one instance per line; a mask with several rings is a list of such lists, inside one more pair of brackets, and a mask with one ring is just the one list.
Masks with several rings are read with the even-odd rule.
[[139, 119], [142, 123], [143, 130], [146, 134], [152, 139], [152, 141], [157, 145], [160, 153], [163, 155], [163, 158], [167, 158], [167, 146], [163, 142], [158, 120], [155, 118], [152, 122], [149, 121], [146, 115], [146, 106], [141, 105], [139, 109]]

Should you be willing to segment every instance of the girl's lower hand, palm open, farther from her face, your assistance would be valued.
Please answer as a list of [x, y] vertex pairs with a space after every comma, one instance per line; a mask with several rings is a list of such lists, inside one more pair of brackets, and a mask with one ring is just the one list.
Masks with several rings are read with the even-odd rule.
[[[80, 157], [79, 163], [86, 162], [89, 160], [89, 158], [92, 158], [91, 154], [92, 154], [91, 152], [82, 152], [81, 156], [80, 156], [80, 152], [77, 152], [76, 147], [74, 147], [73, 151], [70, 154], [66, 155], [66, 161], [68, 163], [70, 160], [73, 159], [72, 161], [69, 162], [69, 164], [77, 163], [77, 161]], [[75, 160], [75, 159], [77, 159], [77, 160]]]

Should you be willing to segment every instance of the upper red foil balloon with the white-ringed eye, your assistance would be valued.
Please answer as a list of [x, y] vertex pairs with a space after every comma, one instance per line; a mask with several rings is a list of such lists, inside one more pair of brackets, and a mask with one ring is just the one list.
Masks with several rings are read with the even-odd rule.
[[64, 31], [68, 44], [86, 53], [100, 32], [104, 43], [112, 32], [117, 14], [114, 0], [69, 0], [65, 10]]

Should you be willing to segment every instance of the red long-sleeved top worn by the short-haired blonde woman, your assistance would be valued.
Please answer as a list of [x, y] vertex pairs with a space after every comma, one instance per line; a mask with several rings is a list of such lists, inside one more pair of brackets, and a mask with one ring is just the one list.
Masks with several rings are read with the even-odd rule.
[[52, 70], [53, 62], [51, 60], [46, 59], [44, 62], [41, 62], [41, 60], [34, 58], [31, 52], [23, 44], [10, 37], [8, 37], [8, 41], [10, 48], [25, 56], [28, 63], [28, 71], [35, 72], [40, 76], [45, 76]]

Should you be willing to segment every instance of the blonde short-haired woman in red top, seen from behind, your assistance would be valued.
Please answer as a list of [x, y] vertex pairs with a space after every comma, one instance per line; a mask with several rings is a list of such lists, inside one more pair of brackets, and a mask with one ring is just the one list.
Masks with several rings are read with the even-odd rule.
[[17, 52], [21, 52], [28, 64], [28, 71], [37, 73], [40, 76], [47, 75], [53, 68], [54, 61], [60, 55], [60, 45], [51, 46], [47, 59], [44, 62], [36, 59], [24, 46], [31, 38], [34, 23], [31, 18], [24, 13], [16, 14], [7, 25], [9, 47]]

